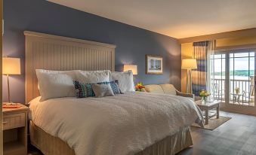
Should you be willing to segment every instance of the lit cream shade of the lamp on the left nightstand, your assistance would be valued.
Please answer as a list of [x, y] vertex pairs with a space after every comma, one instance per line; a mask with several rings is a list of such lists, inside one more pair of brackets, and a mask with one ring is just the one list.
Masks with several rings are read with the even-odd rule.
[[20, 74], [20, 58], [2, 58], [2, 74]]

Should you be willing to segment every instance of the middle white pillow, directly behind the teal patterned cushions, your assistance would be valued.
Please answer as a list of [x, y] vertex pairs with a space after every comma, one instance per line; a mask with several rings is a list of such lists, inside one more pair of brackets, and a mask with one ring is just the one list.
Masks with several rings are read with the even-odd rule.
[[96, 84], [98, 82], [109, 81], [110, 71], [79, 71], [77, 79], [83, 84]]

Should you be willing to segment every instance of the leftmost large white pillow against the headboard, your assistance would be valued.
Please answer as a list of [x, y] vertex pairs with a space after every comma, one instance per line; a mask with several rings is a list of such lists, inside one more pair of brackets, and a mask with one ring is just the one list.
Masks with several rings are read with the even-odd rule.
[[50, 71], [36, 69], [39, 82], [40, 101], [60, 97], [74, 97], [76, 90], [73, 81], [77, 71]]

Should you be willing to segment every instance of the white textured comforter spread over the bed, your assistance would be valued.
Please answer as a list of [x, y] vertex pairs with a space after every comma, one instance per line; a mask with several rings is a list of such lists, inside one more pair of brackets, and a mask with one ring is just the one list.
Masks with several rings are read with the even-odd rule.
[[30, 110], [36, 126], [66, 141], [77, 155], [134, 154], [195, 121], [202, 125], [190, 99], [155, 93], [36, 98]]

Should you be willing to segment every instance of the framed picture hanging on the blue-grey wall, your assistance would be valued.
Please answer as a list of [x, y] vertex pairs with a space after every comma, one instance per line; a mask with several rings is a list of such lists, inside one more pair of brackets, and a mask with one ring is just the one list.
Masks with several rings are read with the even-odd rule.
[[146, 55], [146, 74], [162, 74], [162, 56]]

